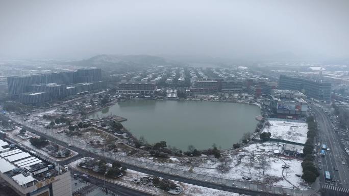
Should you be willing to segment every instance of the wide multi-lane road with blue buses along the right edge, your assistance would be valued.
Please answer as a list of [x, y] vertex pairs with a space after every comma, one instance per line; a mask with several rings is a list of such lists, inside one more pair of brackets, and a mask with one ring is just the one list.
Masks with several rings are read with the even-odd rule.
[[[340, 146], [338, 136], [328, 115], [315, 105], [312, 105], [312, 109], [318, 124], [319, 135], [321, 135], [315, 139], [316, 143], [320, 143], [319, 146], [316, 146], [316, 150], [317, 161], [321, 160], [321, 163], [318, 161], [318, 164], [322, 166], [322, 170], [319, 170], [321, 188], [326, 189], [329, 192], [328, 195], [349, 195], [348, 156]], [[325, 157], [319, 155], [322, 144], [329, 148], [329, 151], [326, 150]], [[343, 165], [342, 161], [346, 162], [346, 164]], [[325, 171], [330, 172], [331, 178], [335, 182], [325, 180]]]

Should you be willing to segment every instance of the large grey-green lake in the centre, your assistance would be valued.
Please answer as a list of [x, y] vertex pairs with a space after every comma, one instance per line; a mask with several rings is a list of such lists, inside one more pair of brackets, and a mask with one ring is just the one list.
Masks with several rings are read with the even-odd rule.
[[186, 151], [189, 145], [207, 149], [216, 144], [232, 147], [244, 133], [254, 132], [260, 115], [256, 105], [189, 100], [128, 100], [90, 115], [101, 118], [117, 115], [134, 136], [143, 135], [150, 144], [166, 141]]

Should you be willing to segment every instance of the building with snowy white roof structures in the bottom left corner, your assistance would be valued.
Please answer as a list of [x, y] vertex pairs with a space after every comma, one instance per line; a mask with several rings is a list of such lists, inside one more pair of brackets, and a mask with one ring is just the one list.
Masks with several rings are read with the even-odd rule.
[[0, 178], [21, 196], [71, 196], [70, 172], [21, 149], [0, 153]]

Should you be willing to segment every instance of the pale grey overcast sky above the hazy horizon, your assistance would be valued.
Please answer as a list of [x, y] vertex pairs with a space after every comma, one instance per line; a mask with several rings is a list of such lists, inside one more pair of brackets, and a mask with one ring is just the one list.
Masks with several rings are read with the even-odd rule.
[[349, 57], [349, 1], [0, 1], [0, 58]]

